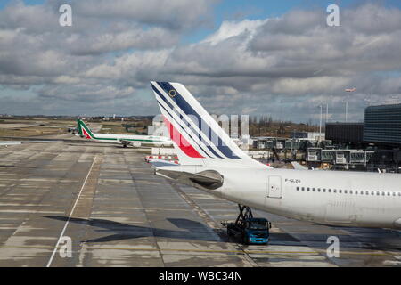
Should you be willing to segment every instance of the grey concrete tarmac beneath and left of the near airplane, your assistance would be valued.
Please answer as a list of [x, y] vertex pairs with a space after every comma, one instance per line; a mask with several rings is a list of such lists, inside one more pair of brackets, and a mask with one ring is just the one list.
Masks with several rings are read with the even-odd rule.
[[236, 204], [154, 175], [143, 152], [46, 139], [61, 142], [0, 147], [0, 266], [401, 266], [399, 232], [260, 211], [269, 244], [241, 245], [220, 224]]

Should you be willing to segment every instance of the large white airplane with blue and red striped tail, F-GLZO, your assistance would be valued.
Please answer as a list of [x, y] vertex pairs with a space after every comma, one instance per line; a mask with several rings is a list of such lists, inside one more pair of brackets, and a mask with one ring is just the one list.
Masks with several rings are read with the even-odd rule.
[[180, 165], [156, 174], [276, 215], [401, 229], [401, 175], [274, 169], [251, 159], [178, 83], [151, 82]]

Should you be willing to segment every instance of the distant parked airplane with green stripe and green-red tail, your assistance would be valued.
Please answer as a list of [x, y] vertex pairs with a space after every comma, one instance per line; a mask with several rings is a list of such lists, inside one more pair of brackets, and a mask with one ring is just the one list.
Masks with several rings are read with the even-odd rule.
[[78, 118], [78, 136], [97, 142], [120, 143], [123, 147], [132, 145], [140, 147], [143, 145], [151, 146], [171, 146], [172, 142], [168, 137], [158, 135], [131, 135], [131, 134], [94, 134], [88, 126]]

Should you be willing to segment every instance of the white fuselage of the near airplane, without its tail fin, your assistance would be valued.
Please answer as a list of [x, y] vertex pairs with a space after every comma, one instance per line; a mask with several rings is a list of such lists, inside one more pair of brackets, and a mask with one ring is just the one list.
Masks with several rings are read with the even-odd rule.
[[[196, 171], [206, 168], [196, 167]], [[213, 167], [207, 167], [213, 169]], [[218, 167], [218, 197], [322, 224], [401, 228], [401, 175]]]

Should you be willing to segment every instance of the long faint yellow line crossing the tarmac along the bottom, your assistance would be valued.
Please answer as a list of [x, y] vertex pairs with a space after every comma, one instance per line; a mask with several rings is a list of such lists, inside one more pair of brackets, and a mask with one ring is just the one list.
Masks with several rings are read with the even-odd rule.
[[[31, 249], [47, 249], [53, 248], [50, 246], [0, 246], [0, 248], [31, 248]], [[59, 249], [59, 245], [55, 249]], [[225, 250], [225, 249], [188, 249], [188, 248], [114, 248], [114, 247], [72, 247], [71, 249], [77, 249], [77, 251], [86, 249], [104, 249], [104, 250], [133, 250], [133, 251], [170, 251], [170, 252], [200, 252], [200, 253], [228, 253], [228, 254], [266, 254], [266, 255], [283, 255], [283, 254], [317, 254], [325, 253], [326, 250], [315, 250], [315, 251], [286, 251], [286, 250]], [[357, 251], [340, 251], [340, 255], [355, 255], [355, 256], [394, 256], [395, 253], [390, 252], [357, 252]], [[394, 256], [395, 257], [395, 256]]]

